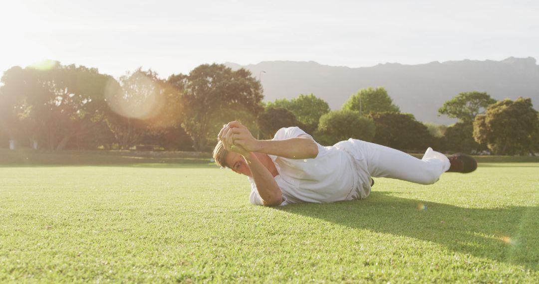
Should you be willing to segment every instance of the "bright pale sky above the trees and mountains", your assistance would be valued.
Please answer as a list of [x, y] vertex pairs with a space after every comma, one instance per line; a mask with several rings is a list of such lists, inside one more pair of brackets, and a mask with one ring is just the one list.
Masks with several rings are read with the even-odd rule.
[[0, 72], [45, 59], [118, 77], [203, 63], [363, 67], [539, 60], [539, 1], [5, 1]]

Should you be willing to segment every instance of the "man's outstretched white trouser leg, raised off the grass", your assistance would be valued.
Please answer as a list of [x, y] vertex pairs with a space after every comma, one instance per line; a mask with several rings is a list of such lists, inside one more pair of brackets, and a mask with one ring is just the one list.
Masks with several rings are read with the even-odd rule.
[[444, 154], [428, 148], [423, 159], [386, 146], [363, 142], [367, 166], [372, 177], [389, 177], [421, 184], [437, 182], [450, 167]]

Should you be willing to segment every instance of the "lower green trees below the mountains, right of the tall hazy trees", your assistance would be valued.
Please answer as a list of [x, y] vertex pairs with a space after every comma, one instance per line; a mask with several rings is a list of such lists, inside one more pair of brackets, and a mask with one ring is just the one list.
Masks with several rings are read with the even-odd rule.
[[330, 111], [313, 94], [267, 103], [260, 126], [265, 138], [271, 138], [280, 127], [301, 125], [325, 145], [357, 138], [407, 152], [429, 146], [471, 154], [539, 152], [539, 114], [530, 98], [498, 102], [487, 93], [471, 91], [445, 102], [438, 113], [458, 122], [419, 122], [411, 113], [400, 112], [384, 88], [367, 88], [351, 96], [341, 110]]

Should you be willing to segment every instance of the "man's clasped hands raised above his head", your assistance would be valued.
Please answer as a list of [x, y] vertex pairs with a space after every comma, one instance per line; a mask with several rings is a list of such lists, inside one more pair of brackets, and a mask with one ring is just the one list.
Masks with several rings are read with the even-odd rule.
[[233, 121], [223, 125], [217, 136], [226, 150], [243, 156], [258, 151], [258, 140], [254, 139], [245, 125]]

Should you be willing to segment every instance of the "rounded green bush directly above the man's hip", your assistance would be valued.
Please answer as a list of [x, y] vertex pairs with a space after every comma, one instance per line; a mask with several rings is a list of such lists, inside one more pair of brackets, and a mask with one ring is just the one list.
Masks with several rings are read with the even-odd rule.
[[333, 145], [349, 138], [372, 141], [376, 126], [372, 119], [362, 117], [357, 111], [330, 111], [320, 117], [316, 140]]

